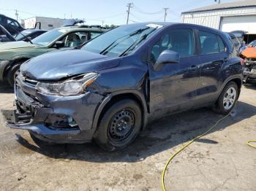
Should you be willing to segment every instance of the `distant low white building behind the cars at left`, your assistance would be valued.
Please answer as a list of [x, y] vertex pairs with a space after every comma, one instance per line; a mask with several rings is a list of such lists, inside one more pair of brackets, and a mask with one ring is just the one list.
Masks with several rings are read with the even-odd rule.
[[41, 29], [50, 30], [53, 28], [61, 27], [64, 24], [65, 19], [51, 17], [31, 17], [25, 19], [23, 22], [24, 28], [34, 28], [36, 23], [41, 23]]

